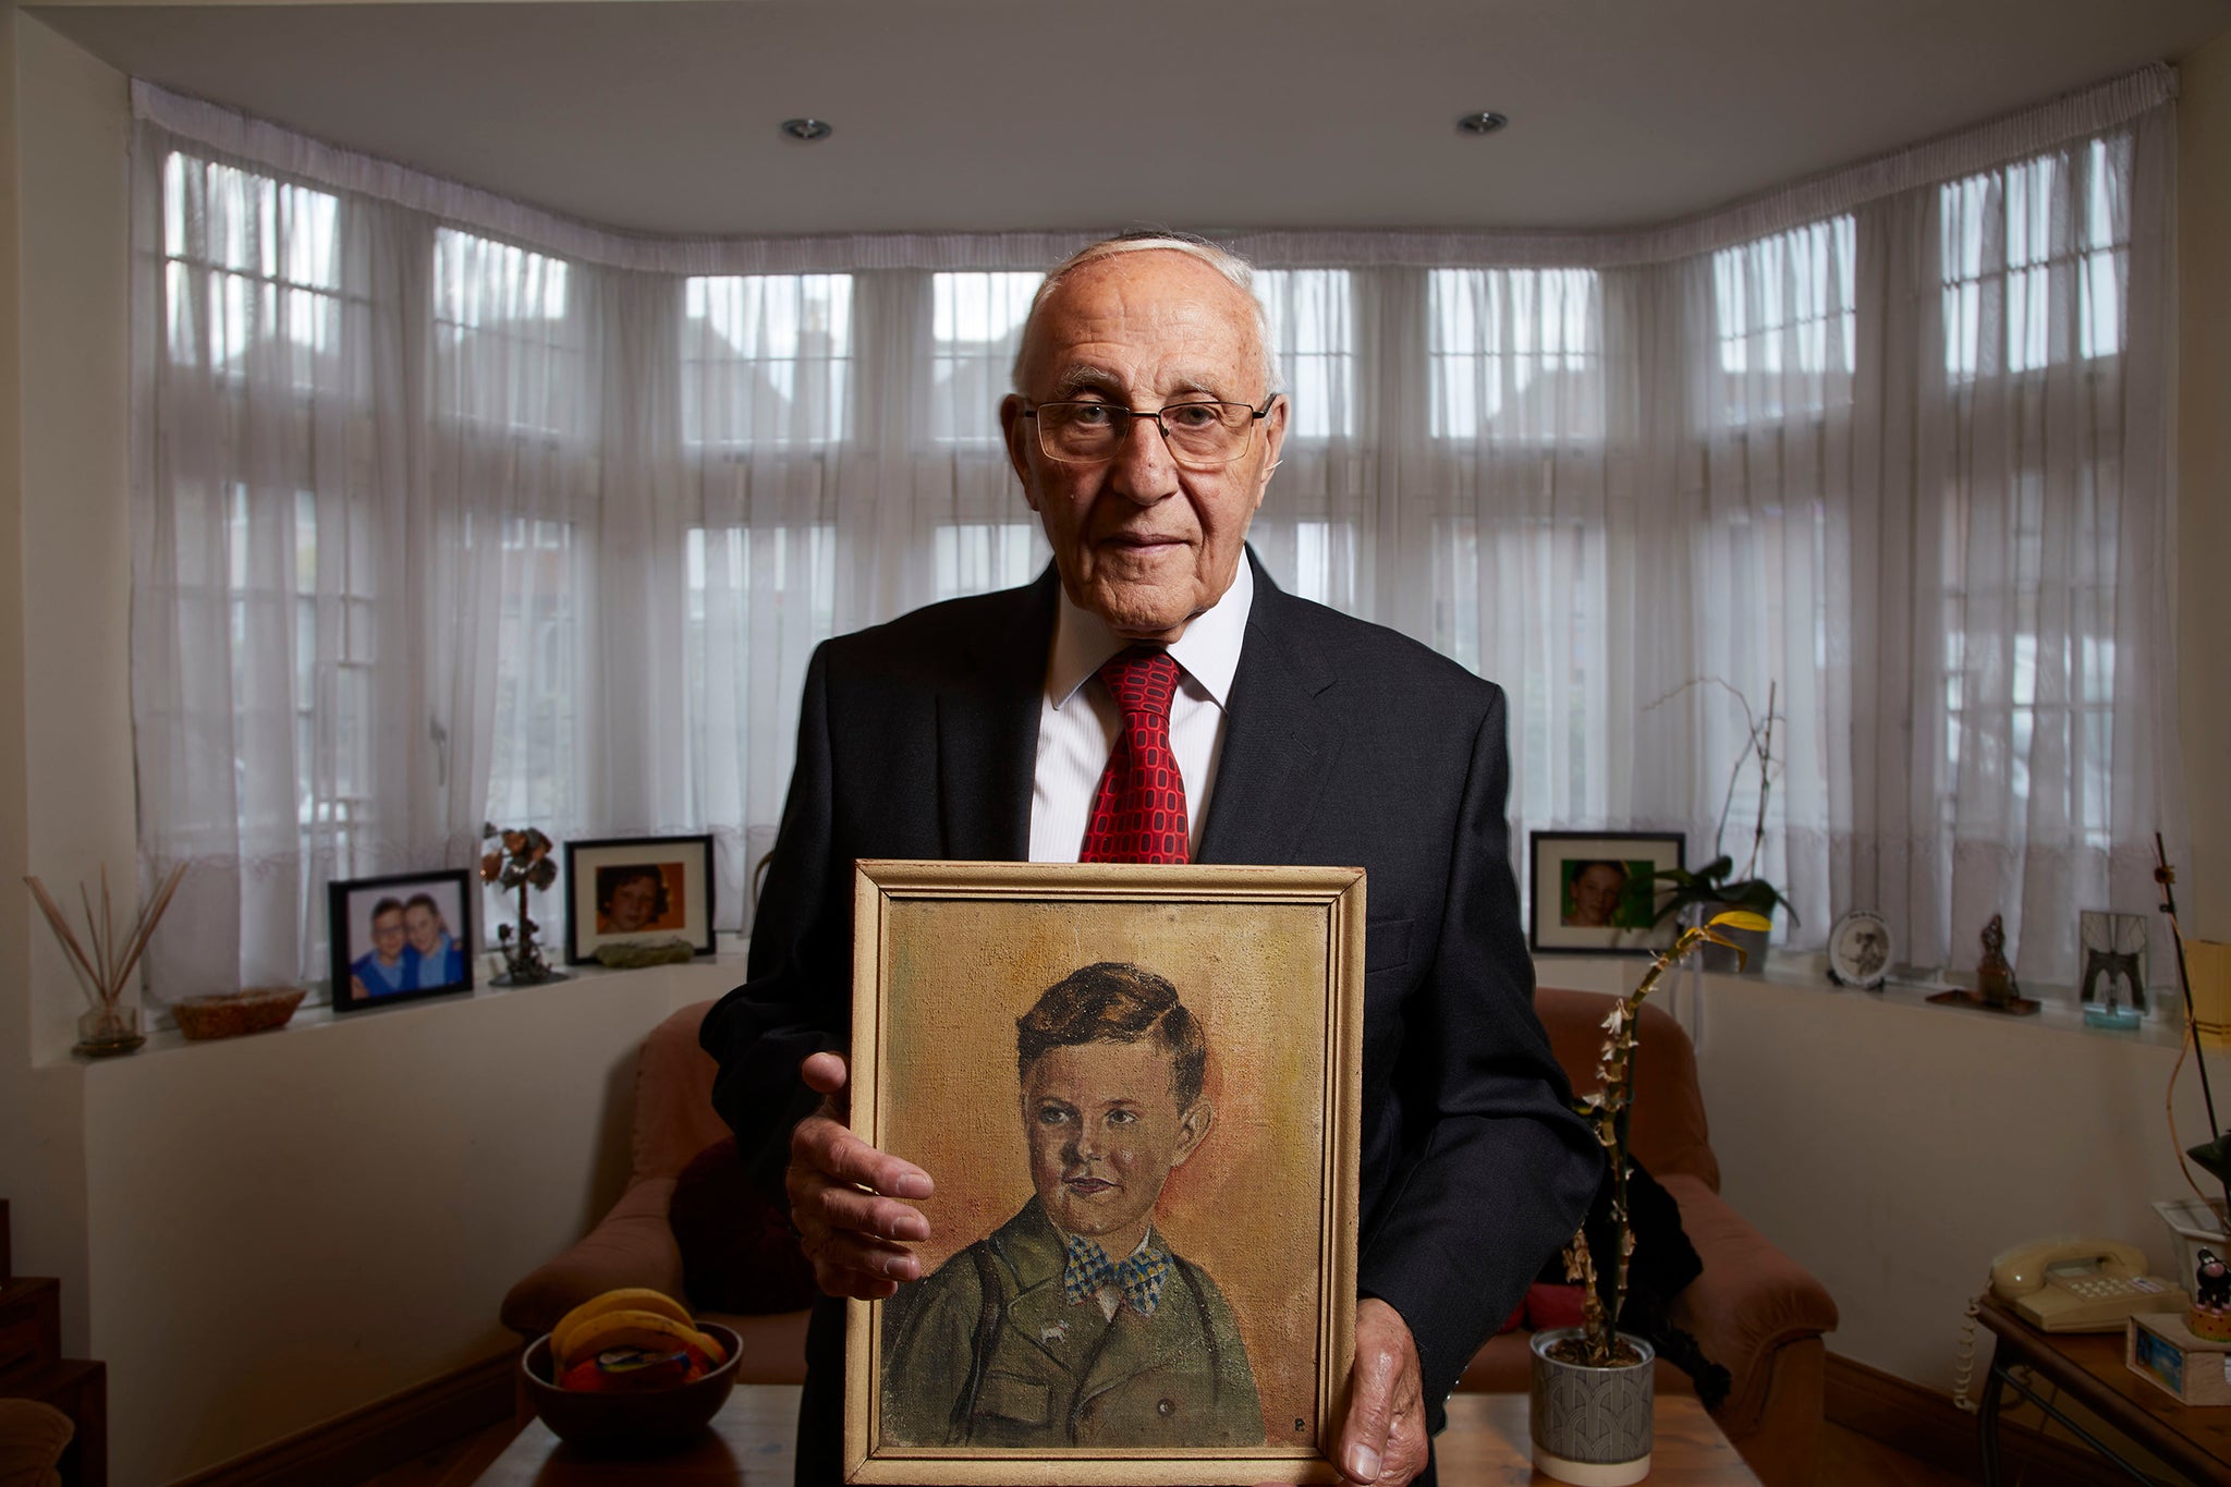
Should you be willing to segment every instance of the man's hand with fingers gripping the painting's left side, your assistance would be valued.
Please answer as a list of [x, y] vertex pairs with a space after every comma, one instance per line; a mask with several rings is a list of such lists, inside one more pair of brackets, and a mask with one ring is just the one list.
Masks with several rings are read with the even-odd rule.
[[[881, 1300], [901, 1280], [921, 1275], [908, 1242], [928, 1240], [930, 1222], [897, 1199], [928, 1197], [930, 1175], [846, 1130], [850, 1070], [839, 1054], [812, 1054], [799, 1063], [799, 1079], [821, 1095], [821, 1108], [790, 1133], [790, 1173], [783, 1179], [790, 1222], [799, 1226], [814, 1282], [825, 1293]], [[1414, 1396], [1414, 1362], [1410, 1373]]]

